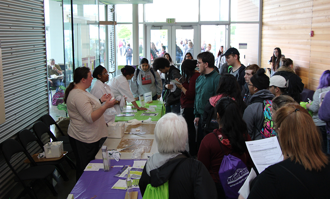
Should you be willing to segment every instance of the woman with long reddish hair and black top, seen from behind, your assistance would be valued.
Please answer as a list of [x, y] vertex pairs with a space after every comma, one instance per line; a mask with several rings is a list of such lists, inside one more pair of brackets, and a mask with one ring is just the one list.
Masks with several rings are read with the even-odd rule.
[[252, 182], [248, 199], [325, 199], [330, 195], [330, 164], [308, 111], [287, 104], [274, 115], [284, 160], [267, 167]]

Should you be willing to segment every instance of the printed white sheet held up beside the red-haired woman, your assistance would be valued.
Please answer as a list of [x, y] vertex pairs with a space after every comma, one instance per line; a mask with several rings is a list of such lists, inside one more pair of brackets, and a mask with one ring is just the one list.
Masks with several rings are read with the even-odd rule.
[[277, 137], [269, 137], [245, 143], [259, 173], [268, 166], [283, 160], [282, 150]]

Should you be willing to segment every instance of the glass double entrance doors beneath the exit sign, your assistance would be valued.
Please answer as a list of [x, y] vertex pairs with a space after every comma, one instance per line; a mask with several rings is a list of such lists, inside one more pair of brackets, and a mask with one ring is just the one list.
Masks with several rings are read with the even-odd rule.
[[[162, 46], [165, 46], [165, 51], [170, 54], [173, 64], [178, 66], [182, 63], [183, 56], [189, 49], [189, 42], [193, 43], [193, 49], [190, 49], [190, 51], [195, 59], [197, 54], [200, 53], [197, 27], [197, 25], [147, 25], [147, 59], [152, 63], [151, 60], [161, 56]], [[197, 43], [194, 45], [196, 41]]]

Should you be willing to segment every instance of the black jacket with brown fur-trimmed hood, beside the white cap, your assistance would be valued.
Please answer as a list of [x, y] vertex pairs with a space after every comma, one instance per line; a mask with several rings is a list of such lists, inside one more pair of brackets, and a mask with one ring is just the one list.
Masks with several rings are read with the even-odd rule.
[[300, 103], [300, 93], [304, 90], [304, 84], [301, 78], [290, 67], [279, 68], [274, 75], [281, 75], [285, 80], [289, 80], [288, 94], [298, 103]]

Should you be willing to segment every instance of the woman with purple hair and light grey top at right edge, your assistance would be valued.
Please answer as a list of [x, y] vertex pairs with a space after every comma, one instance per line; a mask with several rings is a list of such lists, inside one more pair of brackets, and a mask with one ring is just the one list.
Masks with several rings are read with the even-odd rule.
[[327, 131], [325, 129], [325, 122], [320, 120], [318, 117], [318, 109], [320, 108], [320, 93], [330, 91], [330, 71], [326, 70], [322, 73], [320, 82], [316, 91], [313, 95], [312, 104], [306, 104], [306, 108], [313, 111], [313, 120], [316, 126], [320, 129], [322, 133], [322, 151], [327, 152]]

